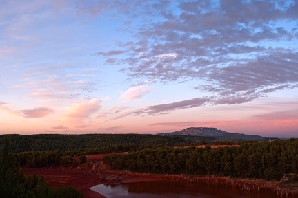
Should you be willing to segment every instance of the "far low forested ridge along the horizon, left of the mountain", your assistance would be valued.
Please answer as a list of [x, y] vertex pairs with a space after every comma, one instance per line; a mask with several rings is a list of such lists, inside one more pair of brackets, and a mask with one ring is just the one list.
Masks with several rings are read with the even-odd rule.
[[84, 135], [0, 135], [11, 142], [14, 153], [25, 151], [57, 151], [86, 155], [92, 153], [135, 151], [155, 146], [178, 146], [190, 144], [181, 137], [163, 137], [141, 134], [84, 134]]

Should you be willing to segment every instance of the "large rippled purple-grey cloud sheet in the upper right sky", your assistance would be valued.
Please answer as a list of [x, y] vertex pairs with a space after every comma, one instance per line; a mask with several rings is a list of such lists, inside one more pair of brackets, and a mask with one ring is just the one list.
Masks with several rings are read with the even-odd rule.
[[297, 46], [275, 44], [297, 43], [297, 1], [180, 1], [177, 10], [168, 8], [150, 10], [163, 20], [140, 24], [139, 40], [119, 45], [127, 56], [115, 56], [118, 50], [97, 55], [130, 65], [121, 71], [132, 79], [192, 81], [195, 90], [214, 94], [217, 104], [297, 88]]

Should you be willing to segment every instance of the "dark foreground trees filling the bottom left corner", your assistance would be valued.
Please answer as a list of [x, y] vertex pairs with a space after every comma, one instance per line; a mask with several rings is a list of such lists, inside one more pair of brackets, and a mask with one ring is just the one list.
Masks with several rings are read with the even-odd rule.
[[6, 141], [0, 150], [0, 197], [20, 198], [79, 198], [83, 195], [72, 187], [52, 188], [36, 175], [23, 175], [15, 155], [10, 153], [9, 142]]

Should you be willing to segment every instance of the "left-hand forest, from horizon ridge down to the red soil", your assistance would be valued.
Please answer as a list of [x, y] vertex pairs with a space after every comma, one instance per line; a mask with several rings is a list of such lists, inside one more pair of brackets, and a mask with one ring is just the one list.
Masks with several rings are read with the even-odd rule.
[[30, 168], [77, 167], [75, 156], [192, 144], [180, 137], [141, 134], [0, 135], [0, 146], [5, 140], [19, 165]]

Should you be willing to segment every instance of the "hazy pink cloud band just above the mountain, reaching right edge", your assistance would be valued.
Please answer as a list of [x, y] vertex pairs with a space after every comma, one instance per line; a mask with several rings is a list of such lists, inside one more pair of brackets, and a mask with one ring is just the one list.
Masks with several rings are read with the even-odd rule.
[[215, 120], [197, 122], [155, 122], [157, 133], [178, 131], [188, 127], [216, 127], [230, 133], [246, 133], [264, 137], [298, 137], [298, 109], [255, 115], [247, 120]]

